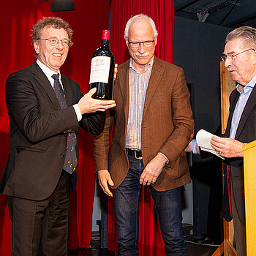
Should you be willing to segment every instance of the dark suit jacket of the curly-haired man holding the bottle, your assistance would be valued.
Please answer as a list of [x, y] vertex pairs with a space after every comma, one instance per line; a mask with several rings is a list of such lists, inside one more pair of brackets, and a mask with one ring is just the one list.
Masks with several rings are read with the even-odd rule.
[[[80, 86], [61, 75], [67, 108], [61, 109], [48, 78], [36, 62], [12, 73], [5, 87], [10, 118], [10, 154], [0, 181], [0, 192], [31, 200], [50, 196], [61, 175], [67, 132], [78, 136], [72, 107], [82, 94]], [[102, 132], [105, 113], [83, 115], [80, 126], [92, 135]], [[78, 153], [78, 146], [76, 148]], [[76, 172], [73, 174], [75, 186]]]

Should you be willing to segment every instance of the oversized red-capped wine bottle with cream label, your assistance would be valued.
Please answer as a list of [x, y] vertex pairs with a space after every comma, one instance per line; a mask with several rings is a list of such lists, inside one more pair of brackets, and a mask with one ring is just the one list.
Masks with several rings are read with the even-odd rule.
[[97, 88], [94, 99], [112, 99], [115, 56], [109, 49], [110, 31], [102, 31], [102, 45], [91, 59], [89, 89]]

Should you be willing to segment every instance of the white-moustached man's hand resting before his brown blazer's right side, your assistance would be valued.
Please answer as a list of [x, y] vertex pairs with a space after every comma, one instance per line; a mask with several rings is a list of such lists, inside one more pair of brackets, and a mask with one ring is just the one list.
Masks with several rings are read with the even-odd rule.
[[157, 154], [156, 157], [151, 159], [143, 170], [143, 173], [141, 173], [140, 184], [143, 184], [143, 186], [154, 184], [160, 173], [162, 173], [162, 168], [165, 166], [165, 162], [166, 158], [161, 154]]

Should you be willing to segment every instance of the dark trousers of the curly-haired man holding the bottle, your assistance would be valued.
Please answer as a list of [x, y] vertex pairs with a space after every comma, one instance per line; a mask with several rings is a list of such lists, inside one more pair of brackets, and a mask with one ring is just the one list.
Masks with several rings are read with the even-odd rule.
[[12, 256], [66, 256], [69, 232], [70, 178], [61, 173], [45, 200], [8, 197], [12, 220]]

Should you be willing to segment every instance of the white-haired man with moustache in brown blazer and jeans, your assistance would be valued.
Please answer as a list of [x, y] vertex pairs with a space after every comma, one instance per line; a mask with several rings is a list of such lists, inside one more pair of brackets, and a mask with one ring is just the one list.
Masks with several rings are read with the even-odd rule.
[[154, 199], [166, 255], [187, 255], [180, 187], [190, 182], [184, 148], [194, 121], [184, 72], [154, 56], [157, 29], [148, 16], [132, 17], [125, 39], [131, 59], [118, 68], [116, 108], [94, 138], [99, 184], [113, 195], [118, 255], [138, 255], [138, 205], [145, 185]]

